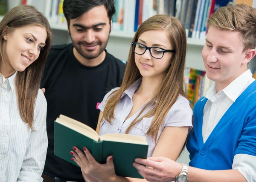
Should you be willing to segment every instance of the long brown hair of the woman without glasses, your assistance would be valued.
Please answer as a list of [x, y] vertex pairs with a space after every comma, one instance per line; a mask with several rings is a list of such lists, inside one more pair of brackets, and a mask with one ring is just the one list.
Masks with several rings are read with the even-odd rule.
[[[9, 27], [7, 31], [6, 26]], [[16, 6], [7, 12], [0, 22], [0, 72], [3, 71], [3, 36], [9, 33], [8, 31], [12, 32], [16, 28], [24, 26], [41, 26], [47, 31], [46, 45], [44, 50], [41, 50], [38, 59], [23, 72], [17, 72], [15, 78], [20, 117], [33, 129], [35, 99], [38, 95], [44, 64], [52, 41], [52, 32], [47, 18], [33, 6]]]

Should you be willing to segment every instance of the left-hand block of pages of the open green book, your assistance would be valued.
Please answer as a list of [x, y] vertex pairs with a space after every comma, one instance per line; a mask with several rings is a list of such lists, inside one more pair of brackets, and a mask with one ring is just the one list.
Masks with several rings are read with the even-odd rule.
[[83, 124], [64, 115], [60, 115], [60, 117], [56, 119], [56, 122], [99, 142], [98, 133], [86, 124]]

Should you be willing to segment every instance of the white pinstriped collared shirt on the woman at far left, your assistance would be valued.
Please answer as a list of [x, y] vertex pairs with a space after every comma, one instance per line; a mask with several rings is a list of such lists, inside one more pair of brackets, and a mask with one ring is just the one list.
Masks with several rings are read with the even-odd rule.
[[20, 118], [15, 76], [0, 75], [0, 182], [42, 182], [48, 146], [47, 102], [39, 90], [32, 131]]

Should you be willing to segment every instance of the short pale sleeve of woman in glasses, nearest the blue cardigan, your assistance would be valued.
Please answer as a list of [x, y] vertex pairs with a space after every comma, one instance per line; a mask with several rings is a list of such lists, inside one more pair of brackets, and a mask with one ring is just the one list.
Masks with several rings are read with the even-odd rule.
[[179, 96], [178, 100], [171, 107], [163, 127], [189, 126], [190, 131], [192, 129], [193, 111], [189, 105], [189, 101], [181, 97]]

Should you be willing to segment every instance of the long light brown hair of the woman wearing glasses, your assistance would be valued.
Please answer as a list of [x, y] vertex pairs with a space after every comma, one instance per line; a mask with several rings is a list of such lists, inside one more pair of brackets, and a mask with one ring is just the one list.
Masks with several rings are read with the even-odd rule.
[[[183, 90], [183, 72], [186, 58], [186, 31], [177, 18], [160, 14], [145, 20], [139, 26], [132, 41], [137, 42], [140, 35], [148, 30], [165, 30], [166, 35], [176, 52], [171, 58], [171, 66], [166, 70], [163, 81], [154, 92], [154, 97], [145, 105], [143, 110], [141, 110], [137, 118], [134, 119], [126, 130], [126, 133], [129, 133], [131, 128], [141, 121], [142, 118], [154, 116], [146, 135], [151, 136], [156, 142], [158, 131], [163, 125], [166, 115], [172, 105], [177, 100], [179, 94], [185, 96]], [[140, 71], [135, 64], [134, 52], [131, 47], [122, 85], [119, 90], [116, 90], [109, 95], [102, 118], [105, 118], [108, 122], [112, 123], [111, 120], [114, 118], [114, 110], [122, 93], [128, 89], [134, 81], [141, 77]], [[154, 105], [154, 107], [152, 107], [144, 116], [141, 116], [145, 109], [151, 105]]]

